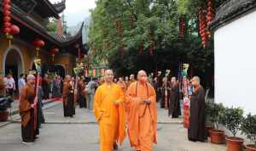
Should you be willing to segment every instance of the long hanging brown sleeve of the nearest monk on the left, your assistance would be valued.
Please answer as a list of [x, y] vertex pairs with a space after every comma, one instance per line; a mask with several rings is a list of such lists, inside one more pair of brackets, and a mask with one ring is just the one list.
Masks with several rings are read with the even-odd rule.
[[26, 126], [28, 121], [30, 120], [30, 109], [31, 103], [28, 102], [27, 98], [27, 87], [23, 87], [20, 93], [20, 104], [19, 104], [19, 111], [21, 117], [21, 125]]

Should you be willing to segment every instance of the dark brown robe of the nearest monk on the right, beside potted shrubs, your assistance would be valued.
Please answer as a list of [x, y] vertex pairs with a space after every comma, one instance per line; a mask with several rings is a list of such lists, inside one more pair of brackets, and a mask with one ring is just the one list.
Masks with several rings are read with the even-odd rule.
[[205, 129], [205, 90], [198, 87], [190, 98], [190, 117], [189, 117], [189, 140], [205, 141], [207, 132]]

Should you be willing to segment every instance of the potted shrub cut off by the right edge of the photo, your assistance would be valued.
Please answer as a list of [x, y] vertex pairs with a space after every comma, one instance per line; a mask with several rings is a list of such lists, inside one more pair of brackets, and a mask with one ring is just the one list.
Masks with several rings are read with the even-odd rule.
[[247, 144], [247, 151], [256, 151], [256, 115], [247, 115], [241, 123], [242, 134], [246, 134], [247, 138], [253, 144]]

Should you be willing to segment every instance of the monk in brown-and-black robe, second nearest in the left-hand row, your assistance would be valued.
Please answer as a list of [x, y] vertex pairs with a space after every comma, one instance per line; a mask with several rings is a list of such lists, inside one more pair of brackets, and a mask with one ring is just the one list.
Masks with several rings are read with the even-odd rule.
[[73, 117], [75, 114], [73, 92], [72, 78], [67, 75], [63, 83], [62, 92], [64, 117]]

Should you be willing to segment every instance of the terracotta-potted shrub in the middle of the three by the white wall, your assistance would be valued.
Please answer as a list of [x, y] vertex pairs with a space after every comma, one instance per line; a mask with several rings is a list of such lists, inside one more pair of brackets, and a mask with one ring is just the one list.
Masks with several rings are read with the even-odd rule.
[[233, 134], [232, 137], [226, 137], [228, 151], [241, 151], [244, 140], [236, 137], [237, 131], [241, 130], [243, 120], [243, 110], [241, 108], [224, 109], [223, 124]]

